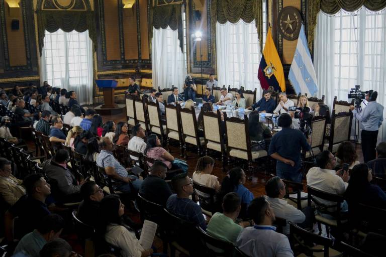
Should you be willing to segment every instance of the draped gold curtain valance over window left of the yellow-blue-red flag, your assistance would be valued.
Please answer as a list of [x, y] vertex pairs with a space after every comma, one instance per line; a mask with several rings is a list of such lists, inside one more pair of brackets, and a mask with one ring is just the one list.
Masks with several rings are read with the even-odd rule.
[[260, 42], [260, 52], [263, 48], [263, 15], [261, 0], [214, 0], [217, 5], [217, 21], [225, 24], [228, 21], [237, 23], [243, 20], [251, 23], [256, 20], [257, 35]]

